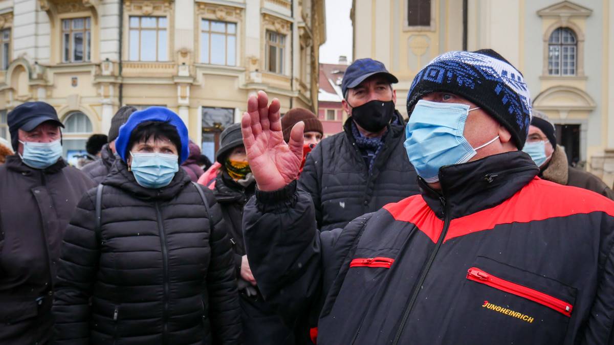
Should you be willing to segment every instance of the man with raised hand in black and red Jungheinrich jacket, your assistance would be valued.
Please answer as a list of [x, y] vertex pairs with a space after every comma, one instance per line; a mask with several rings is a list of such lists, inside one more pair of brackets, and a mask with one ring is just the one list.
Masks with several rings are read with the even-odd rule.
[[315, 309], [325, 345], [614, 343], [614, 203], [537, 177], [519, 150], [529, 91], [502, 56], [445, 53], [416, 75], [405, 149], [421, 194], [343, 229], [317, 231], [295, 182], [302, 125], [286, 145], [279, 106], [261, 92], [243, 116], [258, 184], [244, 239], [286, 322]]

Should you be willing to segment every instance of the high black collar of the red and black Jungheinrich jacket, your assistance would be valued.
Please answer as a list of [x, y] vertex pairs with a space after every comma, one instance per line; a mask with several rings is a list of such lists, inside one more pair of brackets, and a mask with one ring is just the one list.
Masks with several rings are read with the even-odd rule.
[[441, 192], [430, 188], [421, 177], [418, 177], [418, 185], [422, 197], [437, 217], [443, 219], [445, 212], [449, 212], [454, 219], [502, 203], [534, 179], [538, 172], [529, 155], [514, 151], [443, 166], [439, 170]]

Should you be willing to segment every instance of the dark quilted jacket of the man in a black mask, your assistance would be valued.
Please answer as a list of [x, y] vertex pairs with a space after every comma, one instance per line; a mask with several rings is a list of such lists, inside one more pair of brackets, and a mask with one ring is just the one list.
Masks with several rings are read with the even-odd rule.
[[405, 122], [397, 117], [403, 125], [391, 125], [384, 134], [384, 148], [371, 173], [352, 136], [352, 118], [342, 133], [322, 140], [309, 153], [298, 187], [311, 194], [320, 230], [344, 227], [359, 215], [418, 194], [416, 171], [403, 147]]

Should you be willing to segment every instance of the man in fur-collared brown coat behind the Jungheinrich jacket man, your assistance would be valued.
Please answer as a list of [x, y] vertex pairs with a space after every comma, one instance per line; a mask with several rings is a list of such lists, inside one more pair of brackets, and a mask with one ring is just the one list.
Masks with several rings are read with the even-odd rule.
[[554, 125], [543, 112], [533, 110], [523, 151], [540, 168], [542, 179], [592, 190], [614, 200], [614, 192], [599, 177], [569, 165], [564, 147], [556, 144]]

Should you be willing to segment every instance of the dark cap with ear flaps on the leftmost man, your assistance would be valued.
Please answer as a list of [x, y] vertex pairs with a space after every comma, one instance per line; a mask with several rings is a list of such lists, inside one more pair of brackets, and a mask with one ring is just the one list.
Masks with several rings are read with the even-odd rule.
[[34, 130], [36, 126], [47, 121], [54, 122], [56, 125], [64, 127], [60, 118], [58, 118], [58, 113], [55, 111], [55, 108], [49, 103], [40, 101], [26, 102], [11, 110], [7, 115], [7, 124], [9, 125], [13, 149], [17, 150], [18, 130], [29, 132]]

